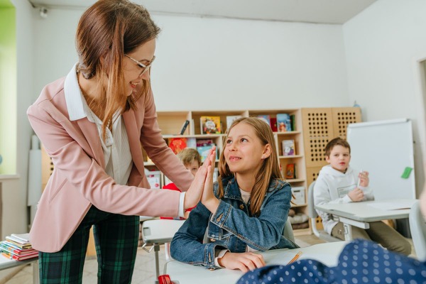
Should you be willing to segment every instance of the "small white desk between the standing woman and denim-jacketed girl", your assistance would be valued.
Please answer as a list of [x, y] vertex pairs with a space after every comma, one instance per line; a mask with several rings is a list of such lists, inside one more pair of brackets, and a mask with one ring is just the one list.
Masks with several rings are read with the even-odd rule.
[[[148, 250], [145, 246], [147, 244], [153, 245], [156, 279], [158, 279], [158, 275], [160, 275], [160, 264], [158, 262], [160, 244], [170, 243], [183, 222], [185, 222], [185, 220], [154, 219], [142, 223], [142, 239], [144, 243], [142, 249], [151, 252], [152, 248]], [[155, 283], [158, 283], [157, 280], [155, 280]]]

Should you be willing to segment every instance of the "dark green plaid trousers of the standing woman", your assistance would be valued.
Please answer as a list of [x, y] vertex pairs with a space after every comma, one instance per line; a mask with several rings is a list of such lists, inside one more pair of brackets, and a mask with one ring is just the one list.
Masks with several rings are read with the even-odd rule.
[[82, 283], [92, 225], [98, 283], [131, 283], [138, 247], [139, 217], [104, 212], [93, 205], [60, 251], [39, 252], [40, 283]]

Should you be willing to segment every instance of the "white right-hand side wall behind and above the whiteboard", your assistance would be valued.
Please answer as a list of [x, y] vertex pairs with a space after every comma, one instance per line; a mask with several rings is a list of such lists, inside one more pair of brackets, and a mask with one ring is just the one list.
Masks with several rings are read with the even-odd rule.
[[417, 76], [417, 60], [426, 58], [425, 12], [424, 0], [379, 0], [343, 26], [349, 101], [361, 105], [365, 121], [413, 119], [417, 192], [425, 184], [424, 102]]

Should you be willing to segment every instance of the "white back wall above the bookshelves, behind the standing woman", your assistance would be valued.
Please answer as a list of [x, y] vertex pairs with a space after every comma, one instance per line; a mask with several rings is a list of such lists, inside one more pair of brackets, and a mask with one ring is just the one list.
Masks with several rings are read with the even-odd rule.
[[[81, 13], [52, 9], [46, 19], [35, 17], [35, 89], [66, 75], [77, 60], [74, 37]], [[152, 70], [158, 110], [346, 107], [352, 103], [342, 26], [153, 18], [163, 30]]]

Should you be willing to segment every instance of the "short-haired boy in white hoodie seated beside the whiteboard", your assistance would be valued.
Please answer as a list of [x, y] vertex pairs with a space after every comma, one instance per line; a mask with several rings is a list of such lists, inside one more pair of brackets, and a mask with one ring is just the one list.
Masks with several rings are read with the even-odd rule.
[[[361, 202], [374, 200], [373, 191], [368, 187], [368, 172], [355, 171], [349, 167], [351, 147], [342, 138], [334, 138], [325, 146], [325, 160], [329, 165], [322, 167], [314, 187], [315, 205], [329, 203]], [[331, 214], [318, 211], [322, 218], [322, 225], [328, 234], [344, 240], [342, 222], [332, 219]], [[410, 243], [383, 222], [371, 222], [370, 229], [352, 227], [354, 239], [368, 239], [376, 241], [386, 249], [409, 255]]]

